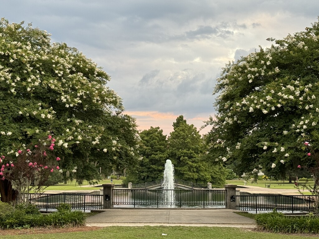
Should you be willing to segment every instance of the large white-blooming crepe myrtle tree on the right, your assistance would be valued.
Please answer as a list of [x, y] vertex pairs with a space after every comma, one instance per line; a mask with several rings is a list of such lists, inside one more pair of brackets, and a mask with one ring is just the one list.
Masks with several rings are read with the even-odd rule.
[[278, 177], [312, 163], [301, 146], [310, 142], [318, 152], [318, 39], [315, 22], [223, 68], [218, 112], [208, 121], [214, 160], [235, 163], [238, 175], [261, 169]]

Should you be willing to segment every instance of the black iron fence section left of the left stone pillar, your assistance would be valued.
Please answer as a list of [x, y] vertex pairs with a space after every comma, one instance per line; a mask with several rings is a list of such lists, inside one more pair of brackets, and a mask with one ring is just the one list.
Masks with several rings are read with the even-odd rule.
[[88, 210], [103, 209], [103, 195], [94, 194], [78, 194], [78, 193], [30, 193], [29, 202], [39, 209], [55, 209], [61, 203], [71, 205], [71, 209]]

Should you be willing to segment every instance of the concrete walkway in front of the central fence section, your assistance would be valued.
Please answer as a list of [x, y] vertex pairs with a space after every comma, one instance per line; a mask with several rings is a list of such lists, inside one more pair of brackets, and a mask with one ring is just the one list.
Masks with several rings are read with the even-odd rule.
[[87, 226], [207, 226], [255, 228], [255, 220], [230, 209], [103, 209]]

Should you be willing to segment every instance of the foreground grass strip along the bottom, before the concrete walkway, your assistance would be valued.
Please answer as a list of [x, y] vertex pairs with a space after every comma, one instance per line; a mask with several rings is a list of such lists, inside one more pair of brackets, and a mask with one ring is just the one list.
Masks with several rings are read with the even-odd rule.
[[[43, 229], [45, 230], [45, 229]], [[116, 239], [157, 239], [163, 238], [162, 234], [167, 234], [164, 238], [171, 239], [301, 239], [305, 235], [282, 235], [265, 232], [256, 232], [242, 228], [219, 228], [219, 227], [181, 227], [181, 226], [143, 226], [143, 227], [106, 227], [100, 230], [71, 233], [53, 233], [37, 235], [4, 235], [1, 239], [92, 239], [92, 238], [116, 238]]]

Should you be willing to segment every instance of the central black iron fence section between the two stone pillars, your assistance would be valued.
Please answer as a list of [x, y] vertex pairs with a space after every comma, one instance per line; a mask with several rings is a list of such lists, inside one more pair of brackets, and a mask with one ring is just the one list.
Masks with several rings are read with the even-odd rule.
[[226, 190], [113, 189], [113, 206], [143, 207], [226, 206]]

